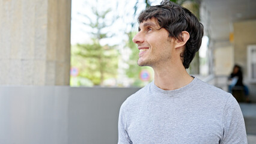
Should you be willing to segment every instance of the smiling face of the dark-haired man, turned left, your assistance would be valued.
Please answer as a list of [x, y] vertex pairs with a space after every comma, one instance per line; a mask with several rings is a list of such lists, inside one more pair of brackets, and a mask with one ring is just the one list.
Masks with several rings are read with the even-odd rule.
[[139, 24], [139, 32], [133, 37], [133, 43], [138, 44], [139, 66], [154, 67], [171, 61], [171, 38], [168, 37], [166, 29], [159, 28], [155, 18]]

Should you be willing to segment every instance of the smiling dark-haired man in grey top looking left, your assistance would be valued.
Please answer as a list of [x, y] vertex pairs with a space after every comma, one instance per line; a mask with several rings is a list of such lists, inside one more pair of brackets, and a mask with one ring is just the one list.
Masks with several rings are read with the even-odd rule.
[[152, 67], [154, 81], [122, 104], [118, 143], [247, 143], [234, 97], [186, 72], [203, 37], [194, 14], [163, 1], [138, 22], [138, 65]]

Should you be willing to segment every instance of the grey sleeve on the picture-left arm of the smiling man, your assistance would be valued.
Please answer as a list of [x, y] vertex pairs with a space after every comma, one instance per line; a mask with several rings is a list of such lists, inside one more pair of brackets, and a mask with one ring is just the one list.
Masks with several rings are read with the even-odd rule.
[[[124, 102], [125, 103], [125, 102]], [[130, 137], [127, 133], [127, 123], [126, 123], [126, 110], [124, 110], [124, 105], [122, 104], [118, 119], [118, 144], [132, 144]]]

